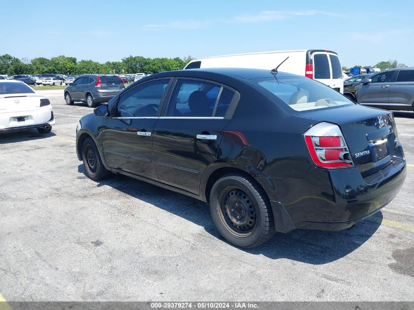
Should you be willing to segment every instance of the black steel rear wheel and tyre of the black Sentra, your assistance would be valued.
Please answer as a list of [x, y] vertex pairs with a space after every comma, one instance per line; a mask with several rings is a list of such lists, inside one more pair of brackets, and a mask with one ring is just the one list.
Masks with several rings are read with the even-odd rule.
[[274, 221], [265, 191], [243, 174], [221, 177], [210, 193], [210, 213], [219, 233], [242, 248], [260, 245], [274, 235]]

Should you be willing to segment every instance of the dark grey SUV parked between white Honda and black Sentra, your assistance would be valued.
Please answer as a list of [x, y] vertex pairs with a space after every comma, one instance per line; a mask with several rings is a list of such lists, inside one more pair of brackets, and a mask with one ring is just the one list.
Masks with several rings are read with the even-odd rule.
[[111, 100], [124, 88], [122, 79], [117, 75], [84, 74], [65, 88], [64, 96], [68, 105], [73, 105], [74, 101], [81, 101], [94, 108], [98, 103]]

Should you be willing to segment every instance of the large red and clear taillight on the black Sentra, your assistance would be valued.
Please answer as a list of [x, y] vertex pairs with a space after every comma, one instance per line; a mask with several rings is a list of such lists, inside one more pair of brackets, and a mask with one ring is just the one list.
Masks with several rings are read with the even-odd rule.
[[312, 161], [322, 168], [352, 167], [352, 158], [341, 129], [322, 122], [304, 133], [305, 143]]

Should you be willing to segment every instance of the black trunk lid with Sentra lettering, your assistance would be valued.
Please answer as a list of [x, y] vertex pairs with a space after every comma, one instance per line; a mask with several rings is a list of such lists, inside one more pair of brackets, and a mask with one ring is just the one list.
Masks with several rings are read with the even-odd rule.
[[301, 112], [300, 116], [339, 125], [363, 177], [390, 164], [397, 143], [392, 112], [358, 104]]

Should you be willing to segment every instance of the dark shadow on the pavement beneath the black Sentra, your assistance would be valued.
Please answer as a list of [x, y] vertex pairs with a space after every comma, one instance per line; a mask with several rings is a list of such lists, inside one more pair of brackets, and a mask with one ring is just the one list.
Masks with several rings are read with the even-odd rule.
[[[78, 172], [84, 174], [79, 178], [87, 177], [83, 164], [78, 166]], [[118, 174], [97, 182], [97, 186], [110, 186], [124, 194], [192, 221], [203, 226], [205, 231], [212, 236], [228, 243], [217, 231], [211, 220], [209, 207], [202, 201]], [[131, 208], [134, 207], [131, 206]], [[254, 255], [264, 255], [273, 260], [289, 259], [309, 264], [325, 264], [345, 257], [364, 244], [376, 232], [382, 218], [382, 213], [378, 212], [349, 230], [297, 229], [287, 234], [276, 233], [268, 242], [258, 247], [241, 250]]]

